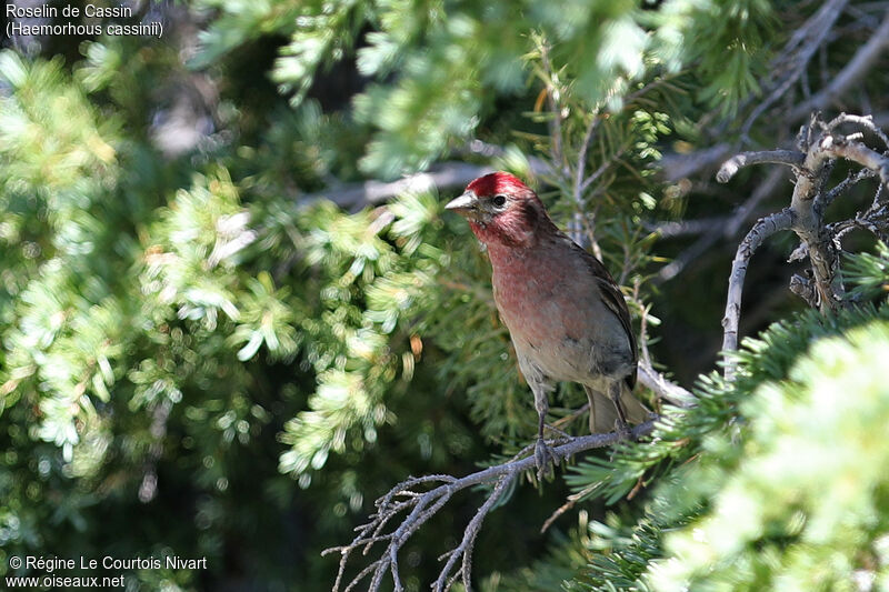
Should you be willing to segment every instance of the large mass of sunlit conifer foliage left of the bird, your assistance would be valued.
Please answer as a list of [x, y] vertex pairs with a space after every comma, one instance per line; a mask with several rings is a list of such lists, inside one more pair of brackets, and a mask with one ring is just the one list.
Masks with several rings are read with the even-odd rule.
[[[72, 79], [58, 61], [0, 56], [13, 89], [0, 110], [3, 556], [100, 553], [113, 541], [132, 555], [206, 554], [221, 574], [224, 530], [243, 523], [256, 541], [244, 553], [264, 558], [242, 559], [254, 578], [326, 581], [329, 562], [293, 565], [262, 549], [271, 526], [280, 549], [292, 548], [281, 513], [323, 500], [333, 513], [313, 528], [327, 540], [297, 546], [317, 558], [337, 542], [343, 516], [363, 511], [368, 491], [411, 471], [403, 455], [369, 468], [371, 478], [356, 466], [379, 424], [397, 417], [384, 395], [411, 378], [432, 384], [416, 378], [420, 352], [408, 338], [434, 304], [429, 287], [444, 259], [433, 245], [438, 200], [404, 195], [348, 215], [326, 201], [271, 199], [290, 182], [273, 170], [233, 181], [220, 160], [182, 178], [178, 163], [124, 138], [117, 118], [100, 117], [78, 82], [113, 84], [89, 71], [98, 63]], [[292, 136], [266, 138], [314, 147], [322, 119], [306, 103]], [[240, 151], [232, 169], [250, 171], [264, 155]], [[336, 165], [324, 152], [306, 162], [307, 187]], [[455, 417], [460, 401], [401, 434], [422, 443], [423, 466], [477, 445]], [[423, 407], [413, 405], [421, 418]], [[317, 493], [296, 496], [279, 456], [280, 471], [308, 486], [331, 451], [351, 454]], [[188, 519], [181, 530], [146, 523], [113, 535], [109, 521], [103, 532], [102, 513], [127, 515], [142, 503]], [[253, 504], [262, 510], [239, 513]], [[82, 543], [87, 535], [98, 550]], [[196, 576], [149, 571], [137, 585], [193, 588]]]

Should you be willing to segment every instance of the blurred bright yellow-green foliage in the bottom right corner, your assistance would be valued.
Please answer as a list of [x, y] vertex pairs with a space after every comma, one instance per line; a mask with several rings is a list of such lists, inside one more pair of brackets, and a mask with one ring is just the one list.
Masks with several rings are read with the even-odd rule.
[[[741, 405], [743, 440], [713, 439], [708, 510], [670, 532], [659, 590], [856, 590], [889, 582], [886, 554], [889, 322], [821, 339]], [[726, 453], [728, 452], [728, 454]]]

